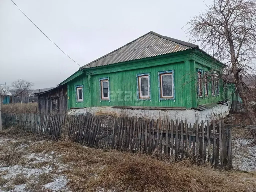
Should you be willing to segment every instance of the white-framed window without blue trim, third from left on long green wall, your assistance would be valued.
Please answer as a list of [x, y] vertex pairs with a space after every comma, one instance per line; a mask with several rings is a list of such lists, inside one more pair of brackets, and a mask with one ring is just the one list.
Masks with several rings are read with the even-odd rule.
[[139, 99], [150, 98], [150, 82], [149, 75], [138, 75], [138, 94]]

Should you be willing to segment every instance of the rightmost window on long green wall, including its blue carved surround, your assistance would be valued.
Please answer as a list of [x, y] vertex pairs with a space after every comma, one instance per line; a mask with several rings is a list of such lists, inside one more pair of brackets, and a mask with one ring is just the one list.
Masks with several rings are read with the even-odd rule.
[[174, 99], [174, 70], [158, 72], [159, 100]]

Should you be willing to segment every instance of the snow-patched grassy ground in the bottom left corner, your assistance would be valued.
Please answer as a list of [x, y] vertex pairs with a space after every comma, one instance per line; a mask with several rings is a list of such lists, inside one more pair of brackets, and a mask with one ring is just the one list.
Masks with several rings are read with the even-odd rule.
[[[33, 141], [33, 144], [40, 142]], [[61, 174], [68, 167], [58, 161], [55, 152], [29, 152], [31, 144], [0, 137], [1, 191], [70, 191], [66, 176]]]

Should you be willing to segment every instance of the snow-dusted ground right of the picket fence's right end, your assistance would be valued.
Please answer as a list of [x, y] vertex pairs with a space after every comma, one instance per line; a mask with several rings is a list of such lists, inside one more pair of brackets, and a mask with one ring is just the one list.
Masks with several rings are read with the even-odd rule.
[[232, 165], [243, 171], [256, 171], [256, 145], [253, 139], [236, 138], [232, 141]]

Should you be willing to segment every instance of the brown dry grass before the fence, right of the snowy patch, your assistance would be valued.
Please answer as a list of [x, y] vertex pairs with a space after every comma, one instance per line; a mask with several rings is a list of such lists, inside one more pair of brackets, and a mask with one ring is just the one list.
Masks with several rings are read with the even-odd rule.
[[[62, 171], [72, 191], [95, 191], [98, 187], [115, 191], [253, 191], [253, 182], [236, 177], [236, 172], [197, 166], [186, 159], [170, 163], [143, 154], [104, 151], [70, 141], [34, 145], [33, 152], [62, 154], [60, 159], [71, 168]], [[248, 176], [248, 175], [247, 175]]]

